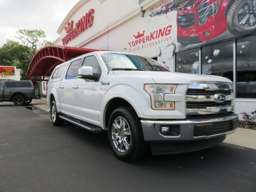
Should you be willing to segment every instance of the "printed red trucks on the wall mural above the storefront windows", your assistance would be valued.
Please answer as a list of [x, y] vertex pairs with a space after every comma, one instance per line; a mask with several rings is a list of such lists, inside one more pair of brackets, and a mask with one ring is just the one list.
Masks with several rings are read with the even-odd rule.
[[[140, 0], [143, 2], [143, 0]], [[177, 13], [177, 42], [199, 44], [226, 36], [256, 32], [256, 0], [163, 0], [143, 11], [142, 17]], [[225, 35], [222, 35], [225, 39]]]

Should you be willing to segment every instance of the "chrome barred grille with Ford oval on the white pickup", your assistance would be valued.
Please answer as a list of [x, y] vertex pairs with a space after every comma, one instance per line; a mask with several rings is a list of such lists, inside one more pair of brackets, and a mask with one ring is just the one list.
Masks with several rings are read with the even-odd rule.
[[187, 117], [232, 112], [233, 86], [221, 82], [192, 82], [186, 92]]

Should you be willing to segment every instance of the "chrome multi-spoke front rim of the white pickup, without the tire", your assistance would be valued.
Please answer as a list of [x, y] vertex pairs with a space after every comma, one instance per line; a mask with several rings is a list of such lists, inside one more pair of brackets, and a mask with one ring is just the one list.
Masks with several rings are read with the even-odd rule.
[[123, 117], [117, 117], [112, 124], [112, 141], [116, 149], [126, 152], [131, 145], [131, 129]]

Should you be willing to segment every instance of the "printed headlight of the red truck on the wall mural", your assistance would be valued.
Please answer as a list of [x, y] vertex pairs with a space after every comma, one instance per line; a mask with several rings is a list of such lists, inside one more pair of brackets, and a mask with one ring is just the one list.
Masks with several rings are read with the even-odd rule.
[[221, 4], [220, 0], [214, 1], [210, 5], [207, 5], [210, 0], [204, 0], [200, 3], [198, 8], [198, 19], [199, 24], [204, 25], [208, 17], [217, 13], [219, 5]]

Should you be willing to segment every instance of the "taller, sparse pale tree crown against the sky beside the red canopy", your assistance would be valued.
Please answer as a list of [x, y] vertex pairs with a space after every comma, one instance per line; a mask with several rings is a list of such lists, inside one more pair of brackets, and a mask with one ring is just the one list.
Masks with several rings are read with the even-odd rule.
[[22, 45], [31, 47], [33, 54], [41, 47], [53, 44], [53, 42], [45, 40], [46, 35], [43, 30], [19, 29], [16, 33], [15, 37], [22, 42]]

